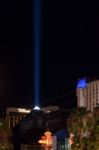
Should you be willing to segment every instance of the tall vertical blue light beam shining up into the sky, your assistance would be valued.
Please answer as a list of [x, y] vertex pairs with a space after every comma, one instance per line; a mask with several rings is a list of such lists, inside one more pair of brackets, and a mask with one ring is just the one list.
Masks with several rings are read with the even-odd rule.
[[34, 6], [34, 106], [40, 105], [40, 49], [41, 49], [41, 0], [33, 0]]

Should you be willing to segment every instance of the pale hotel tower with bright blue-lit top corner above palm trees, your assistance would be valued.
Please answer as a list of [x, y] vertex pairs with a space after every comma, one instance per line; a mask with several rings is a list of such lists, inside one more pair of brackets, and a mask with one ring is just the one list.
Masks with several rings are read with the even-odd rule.
[[91, 82], [87, 82], [86, 79], [79, 80], [76, 94], [77, 106], [93, 111], [99, 105], [99, 80]]

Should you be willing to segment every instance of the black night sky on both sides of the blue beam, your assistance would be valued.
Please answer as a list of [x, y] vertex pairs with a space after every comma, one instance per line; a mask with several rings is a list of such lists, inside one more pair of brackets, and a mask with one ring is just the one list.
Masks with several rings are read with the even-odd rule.
[[[0, 4], [0, 108], [33, 105], [32, 6], [32, 0]], [[79, 78], [99, 78], [99, 8], [91, 2], [42, 0], [41, 20], [44, 102], [75, 91]]]

